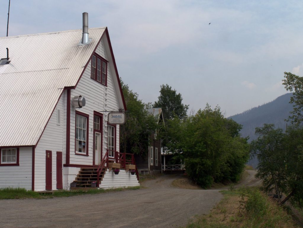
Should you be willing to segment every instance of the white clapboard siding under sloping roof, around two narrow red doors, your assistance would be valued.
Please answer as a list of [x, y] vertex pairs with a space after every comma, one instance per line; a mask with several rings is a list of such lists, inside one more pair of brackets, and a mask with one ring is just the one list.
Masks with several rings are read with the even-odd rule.
[[[66, 92], [64, 92], [66, 93]], [[51, 118], [48, 121], [48, 124], [45, 127], [45, 130], [37, 144], [35, 149], [35, 191], [44, 191], [45, 190], [45, 159], [46, 159], [46, 150], [52, 151], [52, 189], [57, 188], [56, 180], [56, 157], [57, 151], [62, 152], [64, 149], [64, 116], [62, 113], [65, 112], [63, 106], [65, 95], [62, 94], [59, 99], [57, 106], [52, 113]], [[57, 109], [60, 109], [60, 125], [57, 125]]]

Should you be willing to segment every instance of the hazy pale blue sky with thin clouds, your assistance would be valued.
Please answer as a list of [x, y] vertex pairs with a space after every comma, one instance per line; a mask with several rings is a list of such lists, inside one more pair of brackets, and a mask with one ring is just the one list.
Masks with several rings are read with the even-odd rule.
[[168, 84], [190, 109], [231, 116], [285, 94], [285, 71], [303, 75], [303, 1], [11, 0], [8, 35], [82, 29], [82, 12], [108, 27], [119, 75], [143, 102]]

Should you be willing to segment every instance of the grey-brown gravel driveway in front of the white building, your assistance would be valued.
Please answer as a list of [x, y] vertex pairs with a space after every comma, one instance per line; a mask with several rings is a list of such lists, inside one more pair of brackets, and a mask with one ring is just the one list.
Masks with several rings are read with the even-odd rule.
[[178, 176], [143, 183], [147, 188], [45, 200], [0, 200], [0, 227], [179, 227], [207, 214], [219, 189], [171, 187]]

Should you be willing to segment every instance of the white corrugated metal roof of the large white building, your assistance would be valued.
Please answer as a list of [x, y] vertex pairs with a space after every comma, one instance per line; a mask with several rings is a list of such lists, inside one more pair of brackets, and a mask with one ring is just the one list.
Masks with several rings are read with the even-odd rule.
[[0, 38], [0, 146], [35, 145], [65, 86], [75, 86], [106, 28]]

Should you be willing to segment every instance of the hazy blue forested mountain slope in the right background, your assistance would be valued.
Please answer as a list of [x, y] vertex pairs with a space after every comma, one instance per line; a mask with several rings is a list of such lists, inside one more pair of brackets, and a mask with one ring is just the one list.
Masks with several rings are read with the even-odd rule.
[[[255, 136], [255, 128], [261, 127], [265, 123], [273, 123], [275, 124], [276, 128], [282, 128], [285, 130], [285, 119], [290, 116], [289, 112], [291, 112], [293, 109], [292, 104], [289, 104], [291, 96], [292, 93], [286, 93], [271, 102], [228, 118], [233, 119], [237, 123], [243, 125], [241, 135], [242, 137], [248, 136], [249, 142], [257, 138]], [[256, 167], [258, 162], [253, 159], [252, 161], [248, 162], [248, 164]]]

